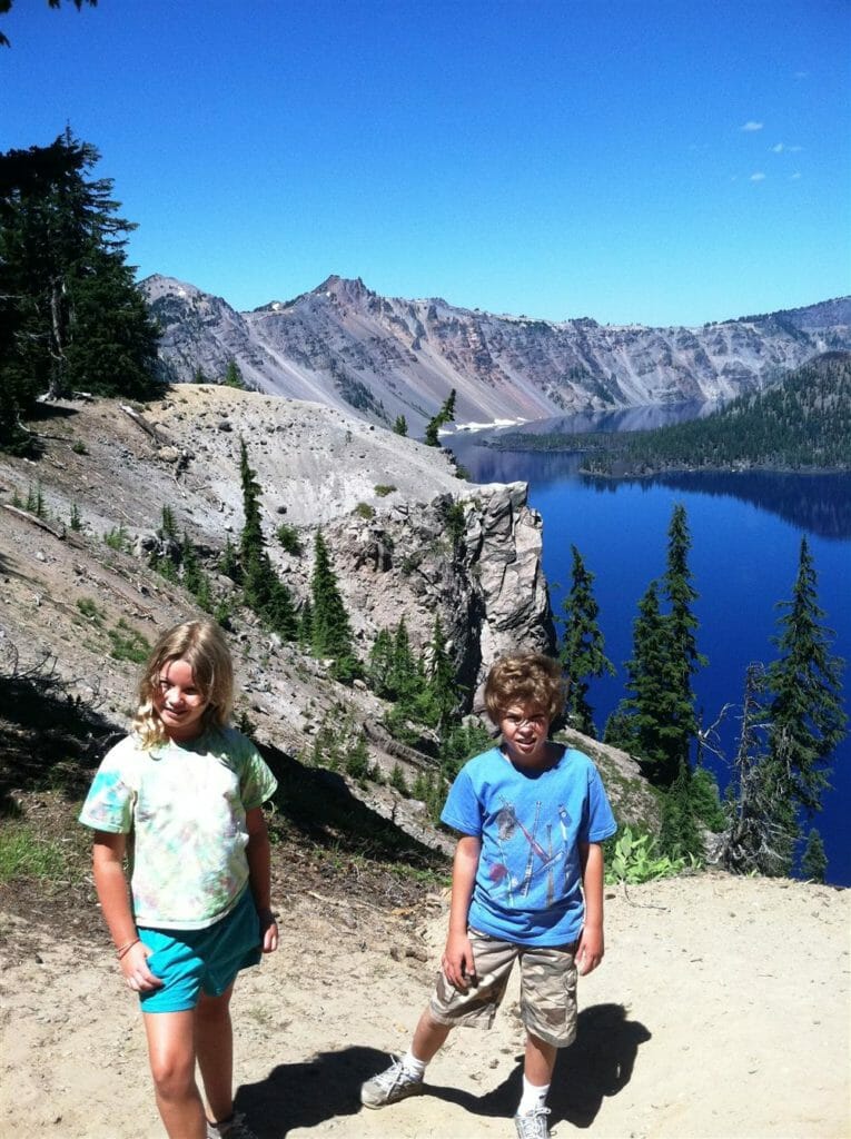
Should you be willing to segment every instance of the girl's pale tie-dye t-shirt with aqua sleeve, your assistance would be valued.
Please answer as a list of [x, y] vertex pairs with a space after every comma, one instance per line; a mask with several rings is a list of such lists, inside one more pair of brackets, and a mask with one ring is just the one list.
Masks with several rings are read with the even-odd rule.
[[104, 757], [80, 813], [95, 830], [132, 835], [133, 917], [159, 929], [203, 929], [248, 882], [245, 816], [277, 787], [235, 728], [145, 751], [129, 736]]

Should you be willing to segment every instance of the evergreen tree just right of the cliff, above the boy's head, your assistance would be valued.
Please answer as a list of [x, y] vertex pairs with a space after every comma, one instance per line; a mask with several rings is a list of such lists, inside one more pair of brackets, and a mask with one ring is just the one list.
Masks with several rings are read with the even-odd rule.
[[565, 713], [571, 727], [596, 736], [594, 710], [588, 703], [589, 679], [604, 673], [614, 675], [614, 666], [604, 653], [604, 639], [597, 623], [599, 606], [594, 598], [594, 574], [590, 573], [575, 546], [571, 589], [564, 600], [564, 639], [558, 658], [570, 678]]

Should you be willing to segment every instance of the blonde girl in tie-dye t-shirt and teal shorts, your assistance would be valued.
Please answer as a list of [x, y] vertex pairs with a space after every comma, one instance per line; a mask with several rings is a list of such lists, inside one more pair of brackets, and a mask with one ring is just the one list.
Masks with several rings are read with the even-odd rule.
[[170, 1139], [252, 1139], [234, 1113], [228, 1006], [239, 969], [278, 947], [262, 811], [277, 784], [228, 727], [232, 691], [219, 626], [170, 629], [145, 669], [132, 734], [105, 756], [80, 814], [96, 831], [95, 885], [139, 994]]

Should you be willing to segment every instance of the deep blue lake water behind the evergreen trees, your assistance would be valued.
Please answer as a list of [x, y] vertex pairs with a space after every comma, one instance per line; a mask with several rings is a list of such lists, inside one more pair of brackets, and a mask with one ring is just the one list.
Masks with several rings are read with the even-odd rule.
[[[657, 415], [652, 424], [690, 412]], [[628, 418], [627, 426], [632, 421]], [[568, 424], [565, 424], [570, 428]], [[607, 417], [606, 429], [614, 424]], [[535, 425], [538, 427], [538, 425]], [[576, 429], [592, 429], [584, 418]], [[707, 474], [653, 481], [592, 480], [579, 474], [579, 457], [565, 453], [496, 451], [469, 433], [447, 445], [474, 482], [529, 483], [530, 502], [543, 517], [543, 567], [553, 611], [562, 612], [570, 588], [571, 546], [595, 574], [594, 591], [606, 655], [617, 675], [590, 690], [598, 732], [623, 696], [623, 662], [632, 655], [638, 601], [664, 573], [666, 531], [673, 506], [685, 505], [692, 534], [689, 567], [699, 597], [698, 647], [709, 664], [694, 686], [704, 727], [725, 704], [734, 704], [721, 728], [725, 760], [710, 761], [723, 787], [735, 751], [745, 670], [776, 656], [777, 603], [792, 596], [801, 539], [807, 535], [818, 574], [823, 623], [834, 630], [833, 655], [851, 659], [851, 475], [774, 473]], [[844, 673], [845, 708], [851, 714], [851, 669]], [[851, 885], [851, 739], [833, 757], [832, 789], [815, 825], [825, 842], [827, 880]], [[804, 830], [810, 823], [804, 823]]]

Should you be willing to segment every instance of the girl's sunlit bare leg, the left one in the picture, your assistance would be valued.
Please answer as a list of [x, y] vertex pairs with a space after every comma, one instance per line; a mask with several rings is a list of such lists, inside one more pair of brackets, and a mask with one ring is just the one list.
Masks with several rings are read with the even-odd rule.
[[169, 1139], [205, 1139], [206, 1117], [195, 1082], [195, 1011], [146, 1013], [150, 1074]]

